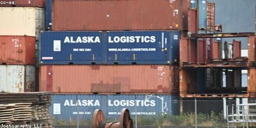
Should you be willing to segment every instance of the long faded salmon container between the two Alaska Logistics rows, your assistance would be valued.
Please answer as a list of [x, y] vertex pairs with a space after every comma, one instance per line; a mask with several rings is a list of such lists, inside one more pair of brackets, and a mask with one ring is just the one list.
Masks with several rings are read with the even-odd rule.
[[179, 93], [179, 67], [168, 65], [40, 66], [39, 91], [53, 93]]

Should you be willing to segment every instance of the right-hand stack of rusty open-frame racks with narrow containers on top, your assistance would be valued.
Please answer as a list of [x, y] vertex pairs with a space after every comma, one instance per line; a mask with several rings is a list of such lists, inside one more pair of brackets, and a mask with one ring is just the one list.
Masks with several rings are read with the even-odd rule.
[[222, 94], [243, 97], [247, 91], [250, 92], [247, 84], [243, 85], [247, 83], [244, 74], [248, 72], [248, 55], [241, 53], [240, 40], [226, 41], [227, 38], [247, 37], [250, 34], [221, 32], [221, 25], [215, 25], [215, 3], [191, 1], [189, 33], [193, 36], [180, 41], [182, 97], [222, 97]]

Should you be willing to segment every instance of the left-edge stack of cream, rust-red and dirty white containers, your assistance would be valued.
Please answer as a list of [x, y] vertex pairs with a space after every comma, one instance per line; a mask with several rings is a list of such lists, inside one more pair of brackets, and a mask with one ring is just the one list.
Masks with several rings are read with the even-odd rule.
[[0, 12], [0, 91], [34, 92], [44, 0], [3, 1]]

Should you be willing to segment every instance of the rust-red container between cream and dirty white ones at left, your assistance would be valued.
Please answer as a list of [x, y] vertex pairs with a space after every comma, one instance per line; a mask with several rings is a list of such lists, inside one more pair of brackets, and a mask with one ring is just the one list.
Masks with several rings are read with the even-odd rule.
[[35, 65], [34, 36], [0, 36], [0, 63]]

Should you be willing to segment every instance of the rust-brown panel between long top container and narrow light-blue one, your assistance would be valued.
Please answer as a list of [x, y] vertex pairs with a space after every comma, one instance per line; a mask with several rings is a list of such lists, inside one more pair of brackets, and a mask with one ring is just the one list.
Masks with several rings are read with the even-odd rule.
[[189, 18], [188, 18], [188, 31], [191, 33], [197, 33], [198, 31], [198, 17], [196, 9], [189, 9]]

